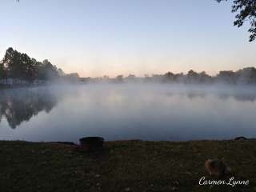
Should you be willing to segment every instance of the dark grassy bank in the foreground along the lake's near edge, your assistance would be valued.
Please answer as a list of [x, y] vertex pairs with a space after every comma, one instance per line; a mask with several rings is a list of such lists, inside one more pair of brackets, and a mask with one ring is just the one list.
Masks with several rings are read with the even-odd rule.
[[[199, 186], [220, 158], [250, 186]], [[210, 178], [214, 179], [214, 178]], [[102, 153], [50, 142], [0, 142], [0, 191], [255, 191], [256, 140], [106, 142]]]

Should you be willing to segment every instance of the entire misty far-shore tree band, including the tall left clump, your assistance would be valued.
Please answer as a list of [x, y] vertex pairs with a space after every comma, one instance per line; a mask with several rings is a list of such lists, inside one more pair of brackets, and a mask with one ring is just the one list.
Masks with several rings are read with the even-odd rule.
[[134, 74], [124, 76], [118, 74], [115, 78], [105, 75], [98, 78], [81, 78], [78, 73], [66, 74], [62, 69], [45, 59], [38, 62], [27, 54], [20, 53], [13, 48], [8, 48], [0, 62], [0, 87], [1, 86], [31, 86], [53, 83], [124, 83], [124, 82], [158, 82], [178, 84], [229, 84], [229, 85], [256, 85], [256, 69], [246, 67], [241, 70], [222, 70], [215, 76], [206, 74], [205, 71], [188, 71], [186, 74], [167, 72], [166, 74], [145, 74], [136, 77]]

